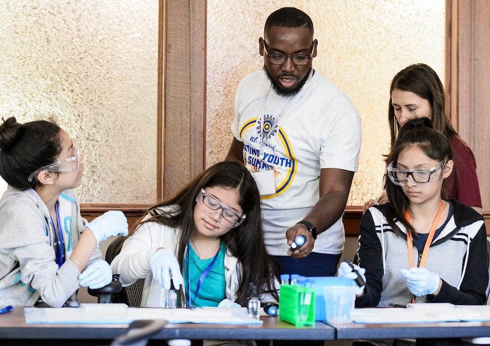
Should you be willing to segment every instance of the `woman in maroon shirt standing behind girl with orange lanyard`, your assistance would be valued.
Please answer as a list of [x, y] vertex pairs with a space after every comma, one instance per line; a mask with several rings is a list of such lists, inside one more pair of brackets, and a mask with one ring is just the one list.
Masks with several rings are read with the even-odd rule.
[[[408, 120], [420, 117], [429, 118], [433, 127], [442, 132], [451, 145], [453, 174], [444, 181], [444, 189], [448, 189], [449, 197], [481, 213], [482, 204], [475, 156], [446, 115], [444, 87], [430, 66], [413, 64], [398, 72], [391, 81], [388, 106], [391, 148], [400, 127]], [[385, 193], [377, 199], [380, 204], [387, 201]], [[373, 204], [373, 199], [366, 202], [365, 209]]]

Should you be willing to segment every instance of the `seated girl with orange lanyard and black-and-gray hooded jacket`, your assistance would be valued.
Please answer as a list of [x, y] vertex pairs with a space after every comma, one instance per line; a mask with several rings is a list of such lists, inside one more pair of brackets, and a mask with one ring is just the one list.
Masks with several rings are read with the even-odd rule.
[[[370, 207], [361, 220], [354, 268], [366, 285], [355, 306], [484, 305], [485, 223], [471, 207], [442, 192], [453, 170], [446, 136], [427, 118], [410, 120], [400, 128], [387, 162], [389, 203]], [[351, 271], [342, 263], [339, 276], [349, 278]]]

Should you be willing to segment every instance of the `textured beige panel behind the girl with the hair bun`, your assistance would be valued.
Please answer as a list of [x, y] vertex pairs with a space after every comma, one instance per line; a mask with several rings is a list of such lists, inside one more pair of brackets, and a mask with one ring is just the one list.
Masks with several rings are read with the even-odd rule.
[[0, 2], [0, 116], [78, 139], [82, 203], [156, 198], [158, 0]]

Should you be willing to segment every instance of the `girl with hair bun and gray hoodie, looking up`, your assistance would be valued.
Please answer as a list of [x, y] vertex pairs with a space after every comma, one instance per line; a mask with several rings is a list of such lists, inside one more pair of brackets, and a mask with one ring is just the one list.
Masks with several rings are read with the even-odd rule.
[[78, 142], [48, 121], [0, 125], [0, 175], [8, 189], [0, 199], [0, 305], [76, 302], [81, 286], [112, 280], [99, 241], [128, 226], [121, 212], [107, 212], [87, 225], [71, 189], [80, 185]]

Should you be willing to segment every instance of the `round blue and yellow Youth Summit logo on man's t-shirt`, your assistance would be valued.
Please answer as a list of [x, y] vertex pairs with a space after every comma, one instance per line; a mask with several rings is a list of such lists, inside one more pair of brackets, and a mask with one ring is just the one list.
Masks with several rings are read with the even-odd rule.
[[251, 172], [274, 170], [276, 193], [261, 197], [268, 199], [291, 186], [297, 167], [291, 143], [283, 129], [274, 124], [275, 118], [266, 114], [261, 122], [261, 118], [250, 119], [241, 126], [239, 134], [245, 166]]

